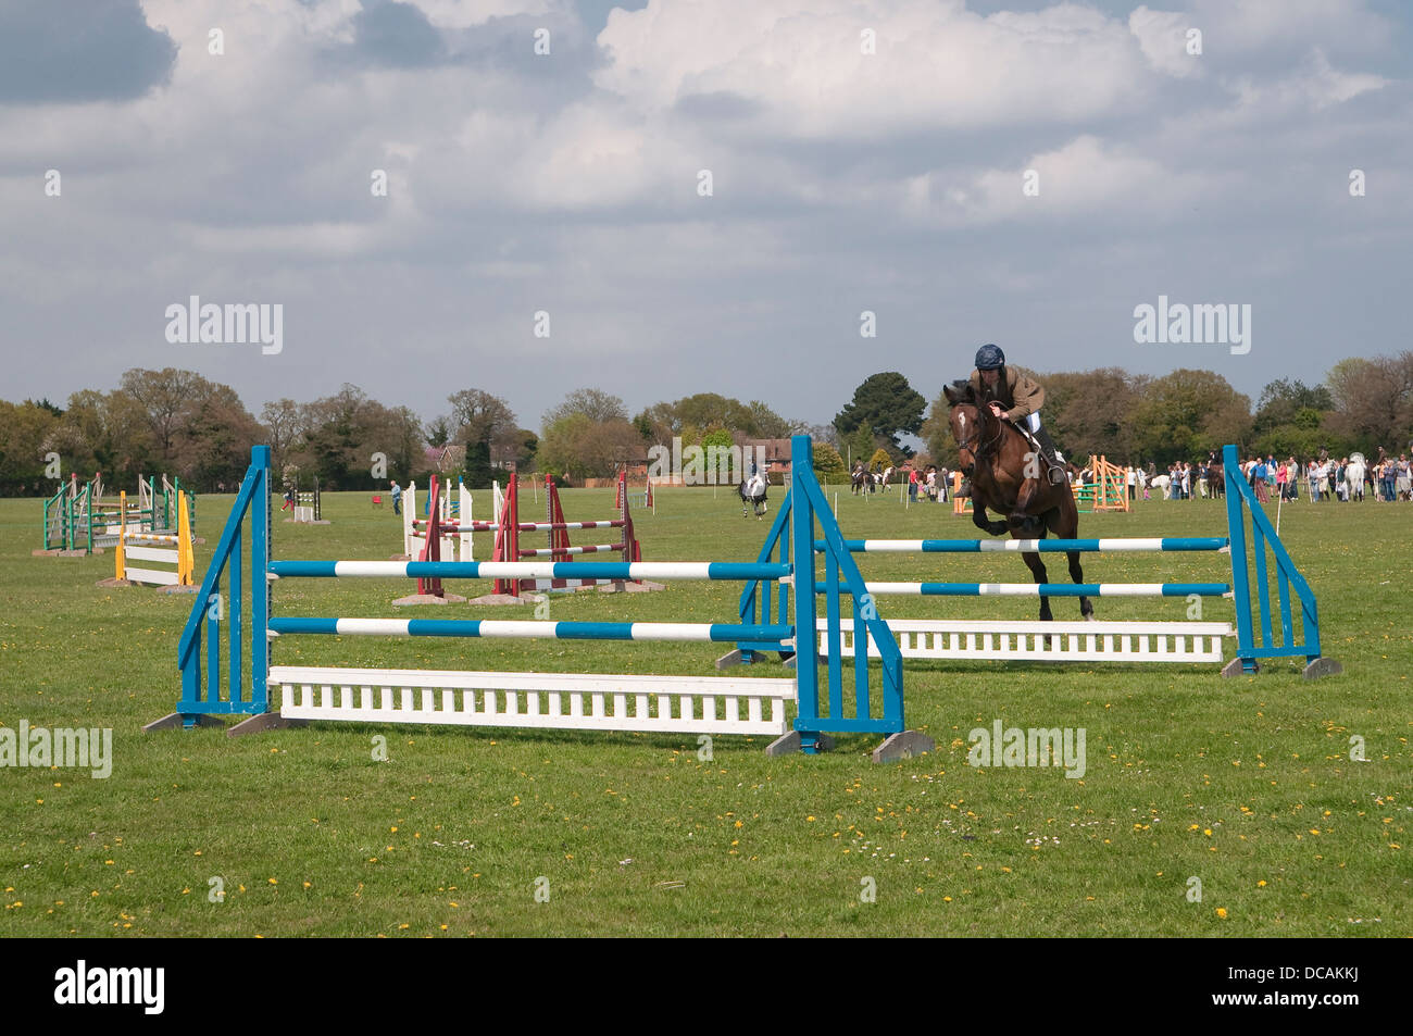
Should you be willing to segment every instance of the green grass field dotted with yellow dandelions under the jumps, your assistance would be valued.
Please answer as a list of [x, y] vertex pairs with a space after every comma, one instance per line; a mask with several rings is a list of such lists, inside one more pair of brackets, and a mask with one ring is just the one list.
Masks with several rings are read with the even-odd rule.
[[[829, 490], [832, 495], [832, 489]], [[779, 490], [773, 493], [773, 498]], [[203, 496], [198, 572], [232, 498]], [[773, 503], [776, 500], [773, 499]], [[565, 493], [569, 520], [610, 490]], [[478, 514], [489, 500], [478, 493]], [[944, 506], [839, 493], [851, 536], [975, 533]], [[386, 560], [400, 520], [325, 493], [281, 558]], [[907, 663], [909, 725], [938, 750], [873, 766], [872, 738], [767, 759], [764, 739], [379, 729], [144, 735], [172, 711], [192, 598], [100, 589], [113, 555], [32, 558], [38, 500], [0, 500], [0, 722], [106, 726], [114, 762], [4, 769], [0, 931], [20, 936], [1407, 936], [1413, 931], [1413, 506], [1286, 507], [1325, 654], [1224, 680], [1215, 666]], [[536, 507], [530, 505], [530, 513]], [[636, 513], [646, 560], [753, 560], [766, 523], [731, 492]], [[1081, 536], [1225, 531], [1219, 505], [1082, 516]], [[588, 534], [577, 541], [589, 541]], [[482, 548], [485, 546], [485, 550]], [[489, 557], [479, 537], [478, 557]], [[859, 557], [870, 578], [1029, 581], [1020, 558]], [[1064, 581], [1063, 558], [1051, 578]], [[1228, 581], [1211, 554], [1087, 555], [1088, 581]], [[473, 596], [483, 584], [452, 584]], [[469, 591], [469, 592], [468, 592]], [[281, 615], [391, 615], [406, 581], [280, 584]], [[739, 584], [555, 598], [554, 619], [732, 622]], [[883, 598], [885, 618], [1033, 618], [1015, 599]], [[1183, 619], [1180, 599], [1096, 618]], [[422, 608], [427, 618], [528, 609]], [[404, 612], [406, 615], [406, 612]], [[1078, 616], [1061, 599], [1056, 616]], [[1231, 620], [1229, 602], [1207, 619]], [[712, 671], [711, 644], [291, 637], [283, 664]], [[773, 669], [771, 674], [780, 674]], [[968, 732], [1087, 731], [1081, 780], [966, 763]], [[386, 735], [386, 762], [374, 760]], [[1351, 760], [1351, 736], [1366, 762]], [[1201, 882], [1193, 902], [1190, 879]], [[543, 879], [543, 881], [541, 881]], [[875, 902], [866, 890], [876, 886]], [[212, 890], [220, 888], [225, 896]], [[537, 899], [537, 888], [541, 896]], [[547, 890], [547, 902], [544, 892]], [[215, 900], [215, 902], [213, 902]]]

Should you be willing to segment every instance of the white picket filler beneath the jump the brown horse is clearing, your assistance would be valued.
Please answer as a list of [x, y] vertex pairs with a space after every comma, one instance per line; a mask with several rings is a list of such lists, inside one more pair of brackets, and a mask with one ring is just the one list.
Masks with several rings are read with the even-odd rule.
[[[1226, 622], [996, 622], [889, 619], [904, 659], [988, 661], [1222, 661]], [[827, 623], [818, 623], [828, 656]], [[841, 620], [839, 656], [853, 657], [853, 622]], [[1048, 644], [1046, 643], [1048, 640]], [[877, 656], [870, 643], [869, 657]]]

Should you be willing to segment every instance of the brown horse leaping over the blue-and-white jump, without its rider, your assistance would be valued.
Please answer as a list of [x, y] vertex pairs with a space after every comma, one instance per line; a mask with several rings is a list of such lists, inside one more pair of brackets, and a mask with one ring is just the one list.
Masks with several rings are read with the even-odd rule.
[[[942, 389], [947, 397], [952, 438], [961, 455], [962, 471], [972, 485], [972, 522], [991, 536], [1010, 533], [1015, 540], [1046, 538], [1048, 529], [1061, 540], [1077, 538], [1080, 512], [1068, 485], [1056, 486], [1046, 478], [1044, 461], [1034, 455], [1034, 447], [1010, 421], [996, 417], [991, 407], [972, 392], [969, 382], [954, 382]], [[986, 509], [1005, 514], [1005, 522], [992, 522]], [[1080, 551], [1065, 551], [1070, 558], [1070, 578], [1084, 582]], [[1048, 582], [1046, 565], [1039, 553], [1026, 553], [1030, 574], [1037, 584]], [[1089, 598], [1080, 598], [1080, 615], [1094, 618]], [[1050, 598], [1040, 598], [1040, 619], [1050, 622]]]

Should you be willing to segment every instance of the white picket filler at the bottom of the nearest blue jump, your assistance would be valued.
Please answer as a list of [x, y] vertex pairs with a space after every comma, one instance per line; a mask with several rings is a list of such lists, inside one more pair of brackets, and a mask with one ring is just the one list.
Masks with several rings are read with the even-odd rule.
[[307, 666], [271, 666], [270, 685], [285, 719], [774, 738], [790, 729], [786, 707], [796, 694], [793, 678]]

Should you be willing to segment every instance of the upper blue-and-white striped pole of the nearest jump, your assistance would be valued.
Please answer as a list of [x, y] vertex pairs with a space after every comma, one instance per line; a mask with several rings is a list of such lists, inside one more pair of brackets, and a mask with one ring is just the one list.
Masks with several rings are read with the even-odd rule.
[[276, 578], [391, 579], [784, 579], [771, 561], [271, 561]]

